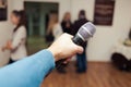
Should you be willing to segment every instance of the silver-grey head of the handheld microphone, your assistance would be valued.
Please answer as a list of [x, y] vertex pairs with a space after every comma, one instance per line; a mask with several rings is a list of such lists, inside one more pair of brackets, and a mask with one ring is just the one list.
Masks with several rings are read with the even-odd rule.
[[93, 37], [95, 32], [96, 32], [95, 25], [92, 24], [91, 22], [87, 22], [80, 27], [78, 34], [83, 40], [87, 40], [90, 37]]

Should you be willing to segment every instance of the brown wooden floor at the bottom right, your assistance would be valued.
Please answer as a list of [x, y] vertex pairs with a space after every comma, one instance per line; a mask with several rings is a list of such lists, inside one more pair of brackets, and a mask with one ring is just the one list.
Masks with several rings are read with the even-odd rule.
[[131, 87], [131, 73], [118, 71], [110, 63], [88, 63], [85, 74], [76, 74], [74, 63], [67, 74], [53, 71], [41, 87]]

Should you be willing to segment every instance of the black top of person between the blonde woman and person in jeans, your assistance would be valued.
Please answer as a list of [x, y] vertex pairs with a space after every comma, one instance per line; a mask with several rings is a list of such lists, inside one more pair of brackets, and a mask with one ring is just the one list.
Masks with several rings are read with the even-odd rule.
[[62, 27], [63, 33], [71, 34], [71, 27], [72, 27], [71, 21], [68, 21], [68, 22], [62, 21], [61, 22], [61, 27]]

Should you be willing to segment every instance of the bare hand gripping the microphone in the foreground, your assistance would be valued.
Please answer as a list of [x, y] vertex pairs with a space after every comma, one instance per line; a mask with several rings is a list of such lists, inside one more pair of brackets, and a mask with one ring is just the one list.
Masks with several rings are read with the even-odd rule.
[[83, 52], [83, 48], [75, 45], [72, 38], [73, 36], [63, 34], [48, 48], [56, 61]]

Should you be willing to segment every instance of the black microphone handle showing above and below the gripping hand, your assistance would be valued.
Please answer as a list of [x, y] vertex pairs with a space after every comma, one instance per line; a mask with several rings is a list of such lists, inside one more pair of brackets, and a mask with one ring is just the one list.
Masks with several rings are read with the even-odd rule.
[[[79, 46], [82, 46], [83, 45], [83, 40], [78, 36], [75, 35], [73, 38], [72, 38], [72, 41], [75, 44], [75, 45], [79, 45]], [[67, 64], [63, 64], [63, 62], [66, 61], [67, 59], [61, 59], [59, 61], [56, 62], [56, 67], [57, 70], [60, 70], [60, 69], [63, 69], [67, 66]]]

